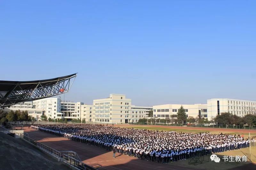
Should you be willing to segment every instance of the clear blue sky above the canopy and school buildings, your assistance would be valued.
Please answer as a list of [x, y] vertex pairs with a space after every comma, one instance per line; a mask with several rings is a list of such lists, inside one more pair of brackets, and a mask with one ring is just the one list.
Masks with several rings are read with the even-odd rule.
[[256, 100], [256, 1], [0, 1], [1, 80], [72, 73], [65, 100]]

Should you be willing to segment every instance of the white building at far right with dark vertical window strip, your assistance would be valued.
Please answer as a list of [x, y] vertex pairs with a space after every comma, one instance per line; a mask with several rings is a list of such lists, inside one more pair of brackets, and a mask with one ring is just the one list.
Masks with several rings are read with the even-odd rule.
[[214, 118], [220, 113], [229, 112], [233, 115], [244, 116], [256, 114], [256, 101], [236, 99], [210, 99], [207, 100], [208, 117]]

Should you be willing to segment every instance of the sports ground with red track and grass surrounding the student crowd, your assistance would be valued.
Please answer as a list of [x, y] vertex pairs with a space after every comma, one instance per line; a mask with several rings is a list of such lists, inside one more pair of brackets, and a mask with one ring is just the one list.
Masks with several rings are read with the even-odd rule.
[[[215, 129], [215, 128], [191, 128], [191, 127], [166, 127], [166, 126], [154, 126], [154, 125], [114, 125], [122, 128], [138, 128], [138, 129], [148, 129], [148, 130], [175, 130], [182, 132], [211, 132], [211, 133], [231, 133], [231, 134], [244, 134], [244, 137], [247, 137], [249, 132], [251, 135], [256, 135], [256, 130], [242, 130], [242, 129]], [[116, 158], [112, 158], [112, 152], [108, 152], [104, 149], [101, 149], [96, 146], [86, 145], [84, 143], [74, 142], [68, 140], [67, 138], [55, 136], [49, 133], [44, 133], [34, 129], [28, 129], [27, 127], [24, 130], [28, 132], [29, 137], [36, 139], [37, 141], [46, 144], [53, 149], [58, 151], [67, 151], [71, 150], [77, 152], [81, 160], [89, 165], [97, 167], [99, 169], [255, 169], [256, 167], [256, 147], [251, 147], [251, 158], [249, 154], [249, 148], [243, 148], [235, 151], [227, 151], [216, 154], [220, 158], [220, 163], [216, 163], [209, 159], [209, 162], [205, 162], [199, 165], [188, 164], [189, 160], [181, 160], [178, 162], [172, 162], [169, 164], [161, 164], [156, 162], [150, 162], [146, 160], [140, 160], [133, 157], [128, 157], [126, 155], [116, 154]], [[248, 156], [253, 162], [249, 159], [247, 162], [224, 162], [222, 159], [223, 156]], [[208, 160], [208, 157], [205, 157], [205, 160]]]

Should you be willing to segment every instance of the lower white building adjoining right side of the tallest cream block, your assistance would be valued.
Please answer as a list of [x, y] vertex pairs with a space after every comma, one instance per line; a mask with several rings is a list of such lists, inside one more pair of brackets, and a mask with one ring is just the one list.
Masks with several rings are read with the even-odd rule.
[[139, 119], [148, 117], [148, 112], [153, 110], [153, 107], [143, 107], [143, 106], [131, 106], [131, 121], [138, 122]]

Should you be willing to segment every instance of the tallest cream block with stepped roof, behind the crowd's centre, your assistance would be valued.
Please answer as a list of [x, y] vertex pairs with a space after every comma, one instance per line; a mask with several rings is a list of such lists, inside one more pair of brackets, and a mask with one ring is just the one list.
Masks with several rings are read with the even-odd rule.
[[108, 98], [93, 100], [94, 122], [128, 123], [131, 121], [132, 100], [122, 94], [110, 94]]

